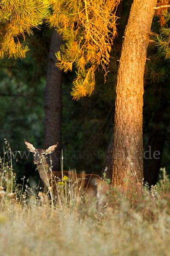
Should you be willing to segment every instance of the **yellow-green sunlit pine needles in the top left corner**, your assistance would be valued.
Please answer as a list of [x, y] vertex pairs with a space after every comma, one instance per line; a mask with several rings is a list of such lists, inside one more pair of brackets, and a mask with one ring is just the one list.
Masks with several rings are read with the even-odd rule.
[[28, 46], [20, 43], [32, 35], [48, 15], [48, 0], [0, 1], [0, 58], [25, 58]]

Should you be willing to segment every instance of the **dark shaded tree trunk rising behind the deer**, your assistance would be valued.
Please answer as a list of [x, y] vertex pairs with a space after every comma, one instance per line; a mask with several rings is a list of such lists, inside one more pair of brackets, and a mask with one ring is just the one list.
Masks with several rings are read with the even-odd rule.
[[51, 154], [52, 166], [55, 171], [59, 171], [60, 167], [62, 118], [62, 71], [55, 66], [57, 60], [55, 53], [59, 51], [61, 42], [61, 38], [57, 34], [55, 28], [53, 28], [48, 56], [45, 91], [44, 146], [45, 148], [48, 148], [49, 145], [59, 142], [57, 150]]

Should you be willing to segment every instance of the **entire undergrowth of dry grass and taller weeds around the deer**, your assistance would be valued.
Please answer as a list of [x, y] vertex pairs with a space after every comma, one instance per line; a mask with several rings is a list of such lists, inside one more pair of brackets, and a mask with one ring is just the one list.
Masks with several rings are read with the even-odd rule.
[[15, 180], [11, 161], [0, 159], [2, 256], [169, 255], [170, 178], [165, 169], [150, 190], [133, 182], [126, 188], [104, 186], [96, 207], [85, 201], [69, 207], [65, 193], [62, 204], [53, 205], [38, 187], [24, 185], [24, 178], [18, 186]]

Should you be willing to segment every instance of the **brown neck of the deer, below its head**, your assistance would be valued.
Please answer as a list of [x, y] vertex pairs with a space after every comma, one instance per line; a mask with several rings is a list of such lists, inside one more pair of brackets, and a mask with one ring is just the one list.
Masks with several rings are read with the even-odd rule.
[[46, 158], [44, 157], [44, 161], [42, 163], [37, 163], [37, 169], [40, 174], [40, 178], [43, 183], [48, 186], [48, 182], [50, 179], [49, 165], [47, 163]]

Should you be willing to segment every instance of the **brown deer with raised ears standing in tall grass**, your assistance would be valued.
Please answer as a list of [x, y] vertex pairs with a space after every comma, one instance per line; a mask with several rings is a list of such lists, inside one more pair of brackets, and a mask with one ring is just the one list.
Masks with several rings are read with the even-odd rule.
[[51, 171], [47, 163], [46, 156], [53, 153], [57, 149], [58, 143], [49, 146], [47, 149], [35, 148], [34, 145], [24, 139], [24, 143], [28, 151], [34, 155], [34, 163], [37, 164], [37, 169], [42, 182], [48, 188], [52, 187], [53, 197], [57, 197], [57, 185], [63, 180], [63, 176], [68, 177], [68, 182], [74, 187], [75, 195], [87, 198], [88, 202], [93, 198], [97, 198], [99, 188], [102, 185], [102, 178], [95, 174], [77, 174], [75, 172], [56, 172]]

